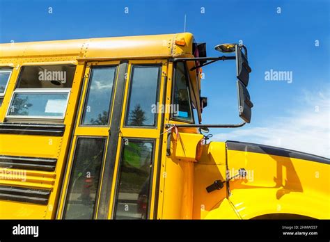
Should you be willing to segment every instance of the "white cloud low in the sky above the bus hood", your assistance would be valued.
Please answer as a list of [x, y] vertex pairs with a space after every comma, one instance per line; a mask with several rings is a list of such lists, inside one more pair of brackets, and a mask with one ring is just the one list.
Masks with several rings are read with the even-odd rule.
[[216, 134], [213, 140], [237, 140], [272, 145], [329, 158], [329, 92], [314, 94], [306, 91], [301, 104], [286, 117], [267, 121], [267, 124], [260, 127]]

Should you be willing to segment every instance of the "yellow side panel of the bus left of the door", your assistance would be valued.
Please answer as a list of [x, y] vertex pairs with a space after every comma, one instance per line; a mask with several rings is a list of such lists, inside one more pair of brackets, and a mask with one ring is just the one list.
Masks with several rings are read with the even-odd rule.
[[63, 135], [0, 134], [0, 219], [55, 218], [84, 68], [74, 73]]

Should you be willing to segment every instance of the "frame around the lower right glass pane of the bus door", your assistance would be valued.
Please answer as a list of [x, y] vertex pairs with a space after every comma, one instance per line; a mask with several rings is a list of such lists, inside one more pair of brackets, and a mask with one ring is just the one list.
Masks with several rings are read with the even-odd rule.
[[143, 142], [143, 143], [152, 143], [152, 154], [151, 154], [151, 168], [150, 168], [150, 175], [149, 175], [149, 191], [148, 191], [148, 207], [146, 210], [146, 218], [145, 219], [139, 219], [139, 220], [148, 220], [150, 216], [150, 206], [152, 204], [152, 181], [154, 178], [154, 172], [155, 172], [155, 157], [156, 149], [157, 149], [157, 142], [155, 138], [136, 138], [136, 137], [122, 137], [120, 142], [120, 153], [119, 153], [119, 159], [118, 159], [118, 168], [116, 171], [116, 186], [113, 191], [113, 205], [112, 205], [112, 211], [111, 211], [111, 218], [116, 219], [116, 212], [117, 212], [117, 204], [118, 204], [118, 194], [119, 194], [119, 182], [120, 182], [120, 171], [123, 166], [123, 157], [124, 157], [124, 149], [125, 149], [125, 140], [128, 140], [128, 142]]

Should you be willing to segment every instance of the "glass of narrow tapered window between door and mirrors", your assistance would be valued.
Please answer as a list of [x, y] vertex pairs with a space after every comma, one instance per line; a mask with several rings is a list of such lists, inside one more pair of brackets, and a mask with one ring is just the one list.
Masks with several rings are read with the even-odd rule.
[[178, 106], [178, 111], [173, 113], [174, 118], [192, 121], [188, 79], [184, 71], [184, 63], [182, 62], [178, 62], [175, 68], [173, 104]]

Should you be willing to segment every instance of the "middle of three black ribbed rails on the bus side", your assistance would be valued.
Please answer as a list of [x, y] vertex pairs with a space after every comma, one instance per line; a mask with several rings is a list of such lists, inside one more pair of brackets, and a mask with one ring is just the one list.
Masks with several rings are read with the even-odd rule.
[[54, 171], [56, 162], [56, 159], [0, 155], [0, 168]]

